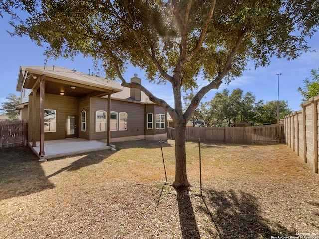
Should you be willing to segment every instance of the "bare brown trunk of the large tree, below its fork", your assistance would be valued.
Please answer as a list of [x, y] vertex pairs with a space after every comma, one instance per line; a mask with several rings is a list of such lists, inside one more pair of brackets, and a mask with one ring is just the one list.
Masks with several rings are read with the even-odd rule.
[[173, 187], [176, 189], [187, 188], [190, 186], [187, 180], [186, 169], [186, 123], [175, 126], [175, 182]]

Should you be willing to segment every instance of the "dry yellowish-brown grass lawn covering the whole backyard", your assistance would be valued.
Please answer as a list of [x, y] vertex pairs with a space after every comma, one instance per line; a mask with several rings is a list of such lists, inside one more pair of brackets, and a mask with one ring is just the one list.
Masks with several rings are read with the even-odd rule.
[[0, 150], [0, 238], [319, 237], [319, 175], [286, 145], [187, 143], [190, 194], [176, 194], [174, 141], [116, 143], [39, 163]]

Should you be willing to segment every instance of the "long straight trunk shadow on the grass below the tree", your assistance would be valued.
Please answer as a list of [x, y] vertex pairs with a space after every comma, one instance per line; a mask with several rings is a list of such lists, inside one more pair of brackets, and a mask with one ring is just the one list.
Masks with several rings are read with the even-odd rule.
[[180, 230], [183, 238], [200, 238], [188, 190], [177, 191]]

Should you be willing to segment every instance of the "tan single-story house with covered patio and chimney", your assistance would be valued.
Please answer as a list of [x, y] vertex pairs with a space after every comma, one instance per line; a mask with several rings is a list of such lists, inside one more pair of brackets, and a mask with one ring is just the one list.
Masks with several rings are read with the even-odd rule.
[[[141, 83], [134, 74], [132, 82]], [[60, 66], [21, 66], [22, 120], [29, 142], [78, 137], [116, 141], [167, 139], [167, 112], [140, 90]], [[40, 114], [41, 113], [41, 114]], [[44, 147], [44, 146], [43, 146]]]

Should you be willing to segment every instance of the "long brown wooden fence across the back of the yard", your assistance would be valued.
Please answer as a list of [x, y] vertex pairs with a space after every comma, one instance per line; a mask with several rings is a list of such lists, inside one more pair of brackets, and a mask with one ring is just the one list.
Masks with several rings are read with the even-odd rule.
[[[168, 128], [168, 138], [174, 139], [174, 129]], [[186, 141], [238, 144], [285, 143], [284, 125], [225, 128], [186, 128]]]

